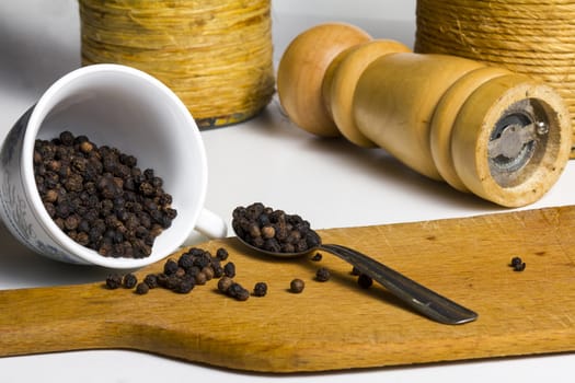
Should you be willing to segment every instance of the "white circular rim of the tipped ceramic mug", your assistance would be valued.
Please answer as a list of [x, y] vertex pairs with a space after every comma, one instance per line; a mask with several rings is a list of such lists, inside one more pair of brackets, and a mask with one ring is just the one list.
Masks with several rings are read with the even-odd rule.
[[[200, 187], [198, 190], [198, 201], [197, 207], [192, 211], [192, 224], [187, 228], [186, 232], [182, 232], [179, 237], [179, 241], [165, 252], [165, 254], [158, 252], [157, 254], [151, 254], [148, 257], [143, 258], [127, 258], [127, 257], [106, 257], [100, 255], [96, 251], [83, 246], [71, 237], [69, 237], [62, 230], [60, 230], [54, 220], [49, 217], [48, 212], [44, 208], [44, 204], [37, 192], [35, 177], [34, 177], [34, 166], [33, 166], [33, 153], [34, 153], [34, 143], [39, 132], [39, 129], [50, 112], [50, 107], [47, 105], [53, 100], [53, 97], [58, 96], [59, 92], [62, 92], [66, 86], [79, 81], [85, 76], [91, 76], [96, 72], [111, 72], [111, 73], [122, 73], [127, 74], [133, 78], [138, 79], [138, 81], [145, 81], [148, 84], [152, 85], [160, 93], [170, 101], [170, 103], [175, 107], [174, 109], [179, 111], [182, 114], [182, 117], [189, 125], [189, 132], [194, 136], [194, 146], [193, 150], [199, 151], [198, 159], [202, 162], [198, 164], [202, 167], [200, 174], [200, 185], [194, 185], [194, 187]], [[186, 144], [191, 144], [187, 142]], [[32, 213], [34, 214], [37, 222], [43, 227], [46, 235], [48, 235], [51, 241], [61, 246], [66, 253], [71, 255], [76, 260], [82, 264], [88, 265], [97, 265], [113, 269], [129, 269], [129, 268], [140, 268], [142, 266], [150, 265], [156, 263], [164, 257], [169, 256], [171, 253], [177, 249], [184, 243], [184, 241], [191, 235], [194, 227], [199, 218], [202, 209], [205, 205], [206, 190], [207, 190], [207, 160], [205, 147], [203, 144], [203, 139], [199, 134], [197, 125], [189, 114], [187, 107], [183, 102], [171, 91], [165, 84], [156, 79], [154, 77], [139, 70], [136, 68], [127, 67], [124, 65], [115, 63], [96, 63], [87, 67], [78, 68], [60, 79], [54, 82], [47, 90], [44, 92], [34, 106], [30, 119], [27, 121], [24, 142], [22, 146], [21, 153], [21, 173], [22, 182], [24, 183], [24, 193], [26, 193], [26, 199], [31, 202], [33, 209]]]

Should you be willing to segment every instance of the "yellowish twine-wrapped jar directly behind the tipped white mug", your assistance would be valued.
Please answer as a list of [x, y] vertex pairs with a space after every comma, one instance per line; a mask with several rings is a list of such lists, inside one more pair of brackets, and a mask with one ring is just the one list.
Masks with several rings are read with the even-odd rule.
[[164, 82], [200, 128], [245, 120], [274, 93], [269, 0], [79, 0], [82, 63]]

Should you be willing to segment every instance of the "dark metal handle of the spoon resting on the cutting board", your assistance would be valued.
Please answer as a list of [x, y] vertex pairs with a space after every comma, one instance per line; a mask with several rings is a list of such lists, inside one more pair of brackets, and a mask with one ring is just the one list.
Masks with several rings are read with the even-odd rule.
[[353, 248], [333, 244], [322, 244], [320, 248], [352, 264], [360, 272], [371, 277], [392, 294], [434, 321], [457, 325], [478, 318], [475, 312], [429, 290]]

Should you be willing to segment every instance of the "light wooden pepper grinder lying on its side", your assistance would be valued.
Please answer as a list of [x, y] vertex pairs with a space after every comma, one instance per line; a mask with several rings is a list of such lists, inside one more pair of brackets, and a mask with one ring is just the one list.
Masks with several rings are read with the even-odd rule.
[[506, 207], [543, 196], [570, 155], [568, 111], [548, 85], [469, 59], [414, 54], [347, 24], [296, 37], [277, 88], [302, 129], [381, 147], [421, 174]]

